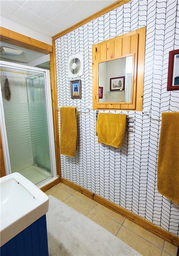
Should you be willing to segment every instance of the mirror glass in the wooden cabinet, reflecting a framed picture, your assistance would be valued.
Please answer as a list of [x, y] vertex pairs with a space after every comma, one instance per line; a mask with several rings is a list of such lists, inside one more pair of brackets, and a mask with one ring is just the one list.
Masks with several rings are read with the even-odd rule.
[[99, 63], [99, 102], [131, 102], [133, 56]]

